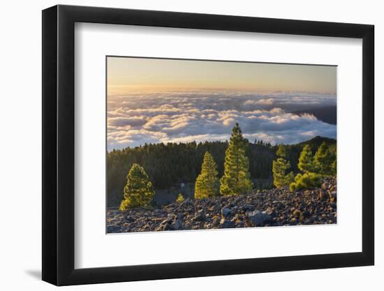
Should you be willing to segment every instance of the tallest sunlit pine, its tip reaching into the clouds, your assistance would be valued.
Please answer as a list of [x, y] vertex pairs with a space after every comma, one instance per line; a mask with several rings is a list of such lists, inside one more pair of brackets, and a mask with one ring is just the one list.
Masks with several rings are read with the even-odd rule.
[[253, 189], [249, 160], [245, 155], [248, 141], [242, 136], [239, 124], [232, 129], [229, 146], [226, 150], [224, 175], [220, 180], [222, 195], [238, 195], [249, 193]]

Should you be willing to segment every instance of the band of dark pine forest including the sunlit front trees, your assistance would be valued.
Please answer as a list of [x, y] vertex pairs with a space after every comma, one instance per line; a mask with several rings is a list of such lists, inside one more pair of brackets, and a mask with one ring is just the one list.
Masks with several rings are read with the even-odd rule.
[[[334, 174], [336, 140], [315, 137], [274, 147], [261, 140], [251, 144], [236, 124], [229, 142], [145, 144], [111, 151], [108, 207], [120, 204], [122, 211], [146, 207], [156, 189], [180, 183], [194, 183], [195, 199], [202, 199], [249, 193], [257, 179], [269, 179], [276, 187], [290, 186], [291, 191], [313, 188], [323, 176]], [[177, 201], [183, 200], [179, 194]]]

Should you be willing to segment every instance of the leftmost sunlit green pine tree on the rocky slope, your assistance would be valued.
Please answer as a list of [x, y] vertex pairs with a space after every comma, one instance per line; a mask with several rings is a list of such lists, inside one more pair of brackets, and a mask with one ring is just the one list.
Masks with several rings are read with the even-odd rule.
[[121, 201], [120, 210], [148, 206], [155, 193], [144, 168], [138, 164], [133, 164], [126, 179], [124, 200]]

